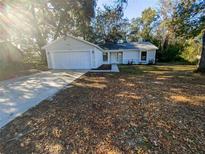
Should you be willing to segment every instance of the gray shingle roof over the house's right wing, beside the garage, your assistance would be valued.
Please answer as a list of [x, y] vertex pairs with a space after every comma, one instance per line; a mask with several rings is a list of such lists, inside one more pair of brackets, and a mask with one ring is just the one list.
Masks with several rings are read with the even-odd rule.
[[126, 49], [136, 49], [136, 50], [157, 50], [158, 48], [150, 42], [128, 42], [128, 43], [107, 43], [100, 45], [104, 50], [126, 50]]

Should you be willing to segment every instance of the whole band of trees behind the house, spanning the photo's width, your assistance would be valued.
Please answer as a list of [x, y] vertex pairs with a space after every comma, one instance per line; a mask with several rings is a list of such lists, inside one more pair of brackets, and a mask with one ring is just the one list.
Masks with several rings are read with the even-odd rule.
[[[42, 46], [67, 34], [96, 44], [143, 38], [159, 47], [159, 61], [198, 61], [204, 38], [204, 0], [159, 0], [158, 9], [147, 8], [131, 21], [124, 17], [129, 1], [116, 0], [101, 9], [96, 9], [96, 2], [1, 0], [0, 40], [10, 41], [24, 51], [25, 57], [40, 56], [43, 62]], [[203, 57], [202, 52], [201, 60]], [[205, 66], [201, 62], [200, 66]]]

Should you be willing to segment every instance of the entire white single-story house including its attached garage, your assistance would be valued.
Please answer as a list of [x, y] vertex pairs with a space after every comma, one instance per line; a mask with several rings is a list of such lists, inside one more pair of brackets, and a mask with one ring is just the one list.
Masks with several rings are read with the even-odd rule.
[[93, 69], [102, 64], [154, 63], [158, 48], [149, 42], [98, 46], [74, 36], [66, 36], [43, 49], [46, 50], [50, 69]]

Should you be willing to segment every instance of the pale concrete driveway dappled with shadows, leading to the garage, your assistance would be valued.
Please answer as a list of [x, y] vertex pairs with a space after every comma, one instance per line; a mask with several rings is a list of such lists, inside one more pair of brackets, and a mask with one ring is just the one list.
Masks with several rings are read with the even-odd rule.
[[47, 71], [0, 82], [0, 128], [87, 71]]

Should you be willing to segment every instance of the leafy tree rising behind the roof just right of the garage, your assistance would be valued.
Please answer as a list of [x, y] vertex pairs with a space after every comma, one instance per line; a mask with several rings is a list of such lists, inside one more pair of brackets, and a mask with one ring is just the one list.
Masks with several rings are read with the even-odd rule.
[[114, 6], [104, 6], [103, 10], [97, 10], [97, 16], [93, 21], [94, 42], [103, 44], [105, 42], [116, 43], [126, 40], [128, 20], [123, 18], [121, 3]]

